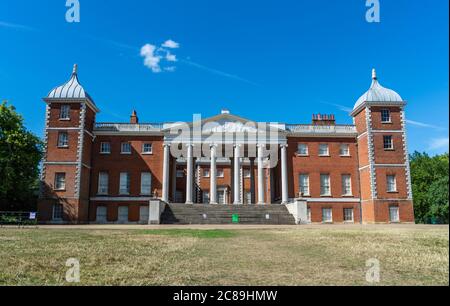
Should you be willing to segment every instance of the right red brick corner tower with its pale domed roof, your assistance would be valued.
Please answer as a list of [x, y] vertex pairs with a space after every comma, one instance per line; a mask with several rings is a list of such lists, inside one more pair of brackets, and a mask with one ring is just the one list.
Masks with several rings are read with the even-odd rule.
[[374, 69], [372, 85], [351, 112], [364, 223], [414, 222], [405, 106], [398, 93], [380, 85]]

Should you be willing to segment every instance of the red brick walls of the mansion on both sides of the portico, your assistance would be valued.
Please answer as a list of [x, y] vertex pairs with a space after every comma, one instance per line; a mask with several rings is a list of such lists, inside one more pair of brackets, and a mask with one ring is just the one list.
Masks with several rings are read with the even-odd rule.
[[[74, 71], [72, 78], [77, 81]], [[171, 154], [169, 164], [164, 165], [164, 144], [168, 139], [165, 124], [139, 124], [135, 111], [130, 123], [96, 123], [98, 109], [91, 98], [87, 94], [68, 96], [70, 91], [64, 96], [65, 86], [56, 88], [44, 99], [47, 121], [38, 205], [41, 222], [88, 223], [99, 222], [100, 218], [110, 223], [123, 222], [121, 218], [130, 223], [144, 222], [142, 214], [146, 213], [148, 200], [163, 195], [165, 166], [170, 169], [168, 200], [186, 201], [186, 160], [175, 159]], [[287, 196], [290, 201], [296, 198], [307, 201], [312, 223], [330, 221], [324, 217], [330, 209], [334, 223], [414, 222], [404, 105], [385, 104], [355, 106], [354, 125], [336, 125], [334, 116], [320, 115], [315, 115], [310, 125], [281, 125], [282, 145], [287, 145]], [[70, 107], [68, 118], [61, 118], [63, 105]], [[390, 122], [381, 120], [382, 112], [385, 115], [386, 111]], [[228, 112], [214, 119], [222, 125], [224, 121], [231, 125], [246, 121]], [[67, 135], [64, 147], [60, 146], [61, 133]], [[383, 136], [391, 137], [393, 148], [385, 148]], [[130, 152], [122, 152], [123, 144], [129, 144]], [[307, 154], [299, 153], [300, 145], [307, 147]], [[326, 156], [319, 154], [321, 145], [328, 146]], [[108, 146], [109, 152], [102, 151], [104, 146]], [[151, 152], [144, 152], [144, 146], [151, 147]], [[348, 154], [341, 154], [343, 147], [348, 148]], [[245, 156], [247, 148], [243, 152], [239, 191], [233, 190], [236, 177], [233, 158], [218, 160], [217, 189], [223, 204], [233, 203], [233, 192], [242, 193], [243, 204], [256, 202], [260, 179], [256, 159]], [[269, 205], [280, 204], [283, 199], [282, 151], [278, 149], [277, 153], [274, 167], [263, 170], [264, 202]], [[252, 171], [251, 161], [254, 163]], [[210, 192], [208, 172], [208, 156], [197, 156], [193, 174], [194, 202], [203, 202]], [[107, 184], [100, 184], [101, 173], [107, 178]], [[122, 178], [122, 186], [121, 173], [122, 176], [127, 173], [129, 178], [129, 181]], [[141, 181], [142, 173], [150, 173], [150, 190]], [[308, 177], [308, 194], [301, 193], [300, 175]], [[326, 183], [321, 181], [321, 176], [325, 182], [329, 178], [329, 194], [323, 194], [325, 187], [322, 185]], [[346, 194], [344, 176], [351, 184]], [[121, 192], [121, 188], [127, 189], [127, 186], [128, 192]], [[395, 187], [395, 190], [388, 190], [388, 187]], [[147, 191], [142, 194], [144, 189]], [[344, 218], [344, 212], [347, 212], [347, 218]]]

